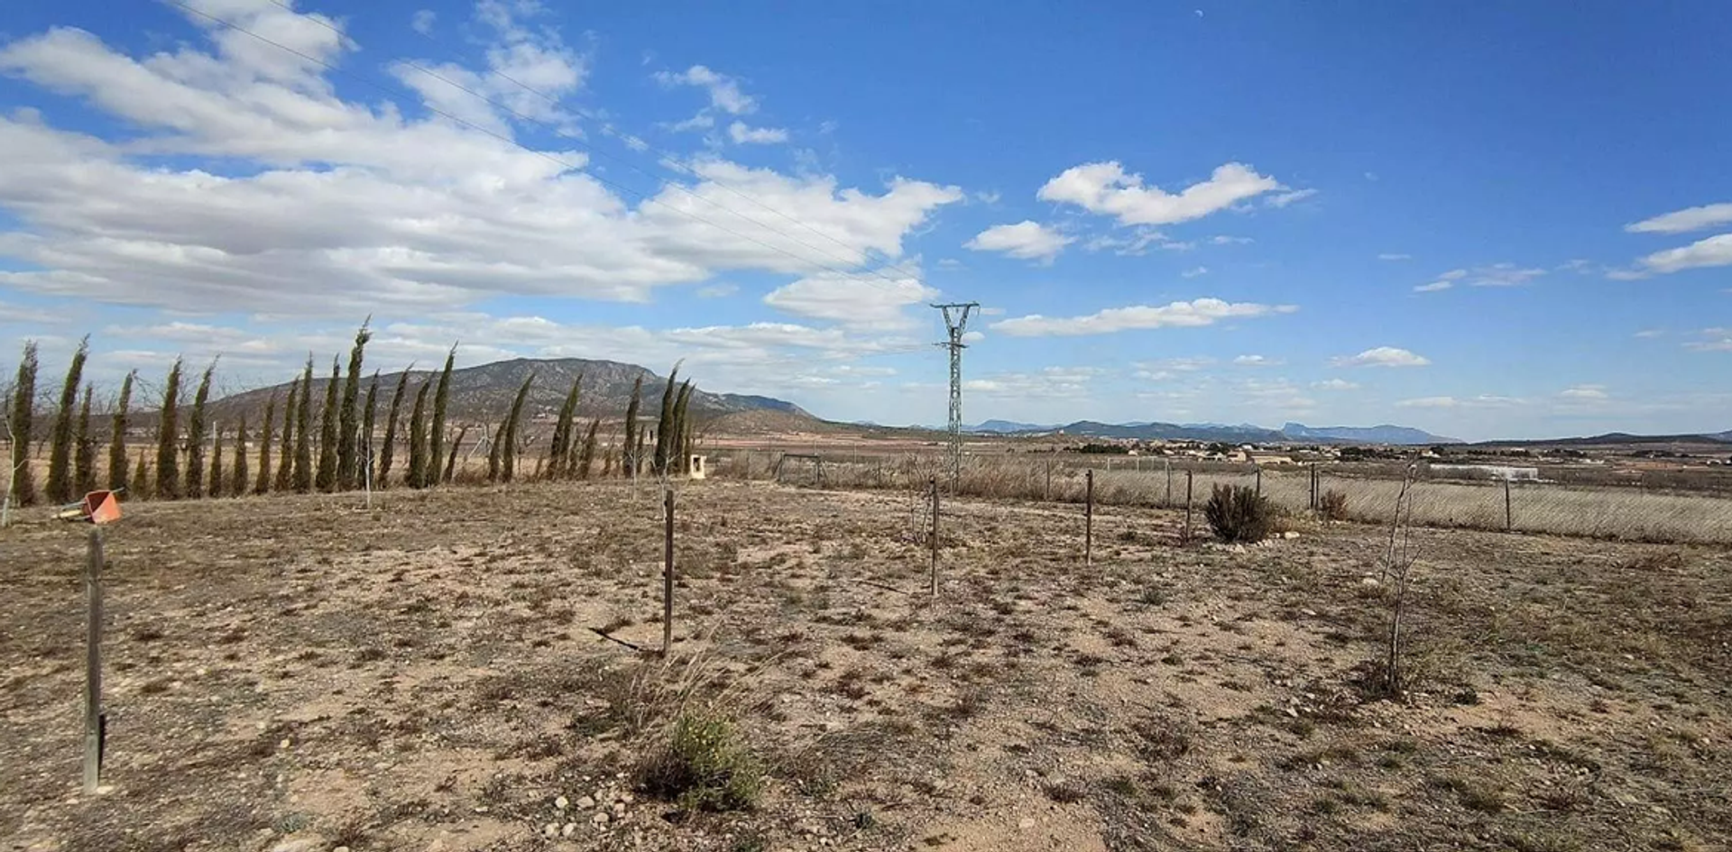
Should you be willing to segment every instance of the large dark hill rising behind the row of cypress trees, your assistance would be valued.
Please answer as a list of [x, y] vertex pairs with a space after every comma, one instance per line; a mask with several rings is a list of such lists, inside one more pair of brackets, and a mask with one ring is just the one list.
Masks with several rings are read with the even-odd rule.
[[[326, 369], [329, 369], [329, 365]], [[584, 388], [578, 395], [577, 405], [577, 412], [582, 417], [624, 416], [625, 405], [632, 395], [632, 381], [639, 376], [644, 381], [644, 416], [655, 417], [655, 412], [662, 405], [662, 390], [667, 386], [665, 378], [656, 376], [650, 369], [636, 364], [587, 358], [499, 360], [450, 372], [450, 405], [447, 409], [447, 417], [459, 424], [497, 423], [504, 417], [506, 410], [511, 409], [511, 398], [518, 393], [518, 386], [523, 384], [523, 379], [530, 372], [535, 374], [535, 381], [530, 384], [530, 397], [525, 403], [525, 410], [532, 419], [537, 416], [556, 416], [559, 407], [565, 403], [566, 391], [572, 390], [572, 379], [578, 374], [584, 376]], [[390, 403], [391, 391], [397, 388], [400, 376], [402, 372], [379, 374], [381, 416], [385, 414], [385, 407]], [[410, 371], [409, 393], [412, 395], [421, 388], [421, 383], [430, 379], [436, 381], [438, 371]], [[696, 379], [701, 383], [703, 376], [696, 376]], [[367, 381], [371, 381], [371, 376]], [[313, 400], [322, 398], [327, 383], [329, 374], [326, 374], [326, 378], [313, 379]], [[272, 395], [279, 397], [277, 409], [281, 412], [281, 397], [284, 393], [288, 393], [288, 384], [256, 388], [216, 400], [211, 403], [211, 410], [222, 419], [237, 417], [241, 412], [246, 412], [249, 419], [255, 419], [263, 414], [265, 402]], [[365, 395], [365, 381], [362, 383], [362, 395]], [[402, 417], [409, 417], [410, 403], [412, 398], [404, 400]], [[701, 386], [693, 390], [691, 410], [707, 419], [743, 412], [776, 412], [781, 416], [779, 421], [785, 428], [792, 428], [792, 424], [798, 421], [807, 421], [814, 426], [823, 423], [786, 400], [740, 393], [712, 393]]]

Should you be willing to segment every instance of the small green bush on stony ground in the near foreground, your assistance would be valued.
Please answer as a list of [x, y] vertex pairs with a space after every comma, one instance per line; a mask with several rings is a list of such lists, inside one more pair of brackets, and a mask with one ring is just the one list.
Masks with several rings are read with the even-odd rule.
[[764, 791], [764, 764], [733, 720], [688, 712], [637, 767], [637, 783], [686, 810], [745, 810]]

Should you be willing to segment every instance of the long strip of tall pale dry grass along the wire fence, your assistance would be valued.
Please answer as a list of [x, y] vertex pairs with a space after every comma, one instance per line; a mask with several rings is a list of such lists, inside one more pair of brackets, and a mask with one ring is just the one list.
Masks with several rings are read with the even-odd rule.
[[[804, 454], [712, 450], [714, 476], [776, 480], [821, 488], [923, 488], [934, 476], [947, 494], [1082, 502], [1084, 471], [1095, 471], [1095, 502], [1183, 509], [1186, 490], [1200, 511], [1219, 485], [1257, 488], [1294, 513], [1318, 511], [1328, 492], [1344, 495], [1342, 520], [1389, 523], [1401, 492], [1398, 466], [1283, 464], [1076, 455], [965, 457], [953, 485], [942, 454]], [[1313, 473], [1315, 471], [1315, 473]], [[1315, 480], [1313, 480], [1315, 476]], [[1583, 535], [1645, 542], [1732, 544], [1732, 497], [1725, 492], [1552, 481], [1464, 481], [1419, 468], [1412, 520], [1422, 526]]]

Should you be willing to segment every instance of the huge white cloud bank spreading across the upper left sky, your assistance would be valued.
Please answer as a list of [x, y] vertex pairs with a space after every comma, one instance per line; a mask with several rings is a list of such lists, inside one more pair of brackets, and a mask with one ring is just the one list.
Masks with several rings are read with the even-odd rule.
[[[262, 9], [237, 23], [317, 57], [334, 59], [346, 43], [327, 26]], [[513, 9], [523, 7], [480, 7], [495, 47], [513, 62], [554, 50], [554, 35], [521, 24]], [[656, 287], [726, 270], [809, 275], [897, 258], [913, 229], [963, 197], [918, 180], [869, 192], [826, 175], [705, 159], [682, 165], [688, 184], [629, 199], [584, 171], [578, 152], [343, 100], [324, 69], [230, 36], [206, 28], [208, 52], [145, 59], [78, 29], [0, 47], [0, 73], [144, 130], [120, 145], [33, 114], [0, 116], [0, 161], [12, 166], [0, 208], [19, 222], [0, 232], [0, 255], [24, 265], [0, 272], [0, 284], [286, 317], [454, 310], [502, 294], [644, 301]], [[553, 64], [556, 78], [575, 73]], [[509, 62], [497, 68], [546, 83]], [[218, 175], [168, 166], [165, 156], [255, 168]], [[736, 194], [800, 227], [700, 201], [726, 206]]]

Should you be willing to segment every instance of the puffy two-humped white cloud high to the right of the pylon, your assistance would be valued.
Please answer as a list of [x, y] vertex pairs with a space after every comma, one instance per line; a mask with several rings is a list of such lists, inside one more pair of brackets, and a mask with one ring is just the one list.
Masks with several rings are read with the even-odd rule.
[[1145, 187], [1141, 175], [1126, 173], [1117, 161], [1107, 161], [1067, 168], [1036, 196], [1115, 216], [1122, 225], [1173, 225], [1278, 189], [1283, 189], [1278, 180], [1259, 175], [1247, 165], [1226, 163], [1209, 180], [1173, 194]]

